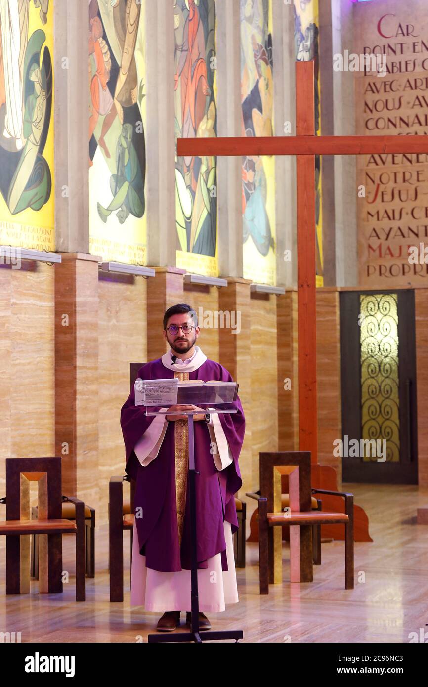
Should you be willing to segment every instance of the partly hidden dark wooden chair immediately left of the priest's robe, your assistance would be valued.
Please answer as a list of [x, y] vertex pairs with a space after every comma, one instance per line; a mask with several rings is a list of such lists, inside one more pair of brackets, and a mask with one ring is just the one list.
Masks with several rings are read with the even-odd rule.
[[[124, 482], [131, 483], [131, 499], [124, 501]], [[131, 562], [133, 555], [135, 480], [111, 477], [109, 485], [109, 571], [110, 601], [124, 600], [124, 530], [131, 530]]]

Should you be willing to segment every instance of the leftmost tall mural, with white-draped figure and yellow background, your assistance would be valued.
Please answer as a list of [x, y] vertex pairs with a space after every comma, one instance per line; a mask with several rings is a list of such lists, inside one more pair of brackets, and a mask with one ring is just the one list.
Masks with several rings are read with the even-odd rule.
[[0, 0], [0, 244], [54, 250], [52, 0]]

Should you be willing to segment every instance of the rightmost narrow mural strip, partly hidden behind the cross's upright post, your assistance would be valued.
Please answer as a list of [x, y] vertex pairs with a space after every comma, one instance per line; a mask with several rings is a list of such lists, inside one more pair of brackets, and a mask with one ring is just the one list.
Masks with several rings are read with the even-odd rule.
[[[300, 61], [315, 61], [315, 133], [321, 135], [321, 105], [319, 95], [319, 0], [294, 0], [294, 41], [295, 59]], [[321, 157], [315, 158], [315, 184], [317, 196], [315, 199], [317, 224], [317, 286], [324, 284], [323, 254], [322, 254], [322, 179]]]

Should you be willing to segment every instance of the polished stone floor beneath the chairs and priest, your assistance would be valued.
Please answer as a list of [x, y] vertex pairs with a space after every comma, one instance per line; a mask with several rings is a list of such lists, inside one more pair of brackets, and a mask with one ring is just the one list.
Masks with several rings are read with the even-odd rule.
[[[247, 567], [237, 570], [240, 602], [212, 613], [213, 629], [243, 629], [244, 642], [409, 642], [427, 629], [428, 526], [416, 525], [416, 508], [428, 506], [428, 490], [416, 486], [346, 485], [365, 508], [372, 543], [355, 544], [355, 588], [344, 589], [343, 542], [322, 545], [314, 582], [289, 579], [258, 593], [258, 545], [247, 544]], [[252, 507], [252, 504], [248, 504]], [[74, 600], [73, 540], [65, 537], [63, 566], [71, 579], [63, 594], [5, 596], [5, 545], [0, 541], [0, 632], [21, 632], [22, 642], [136, 642], [154, 631], [159, 614], [129, 605], [129, 545], [125, 541], [123, 604], [109, 602], [107, 528], [96, 532], [96, 574], [87, 579], [87, 600]], [[185, 616], [182, 615], [182, 623]], [[184, 628], [183, 628], [184, 629]], [[428, 639], [428, 636], [427, 636]], [[241, 640], [242, 641], [242, 640]]]

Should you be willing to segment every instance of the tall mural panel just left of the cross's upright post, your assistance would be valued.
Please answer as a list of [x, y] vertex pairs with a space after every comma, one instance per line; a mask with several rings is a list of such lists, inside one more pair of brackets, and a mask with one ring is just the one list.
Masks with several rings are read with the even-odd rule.
[[[272, 8], [270, 0], [240, 0], [243, 136], [273, 135]], [[243, 157], [244, 277], [274, 285], [275, 158]]]

